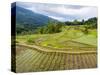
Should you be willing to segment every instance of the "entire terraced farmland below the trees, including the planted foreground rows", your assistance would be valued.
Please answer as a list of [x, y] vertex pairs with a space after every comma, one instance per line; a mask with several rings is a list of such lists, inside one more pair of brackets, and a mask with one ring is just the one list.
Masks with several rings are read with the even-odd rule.
[[65, 26], [54, 34], [16, 36], [16, 72], [97, 67], [97, 31]]

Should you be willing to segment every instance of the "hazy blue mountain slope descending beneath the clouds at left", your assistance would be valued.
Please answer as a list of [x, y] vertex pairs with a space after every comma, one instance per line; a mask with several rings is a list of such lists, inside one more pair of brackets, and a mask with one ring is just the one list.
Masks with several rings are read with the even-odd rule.
[[38, 14], [31, 10], [16, 6], [16, 4], [12, 4], [11, 13], [12, 17], [16, 16], [17, 33], [21, 33], [22, 31], [34, 32], [37, 27], [47, 25], [49, 20], [57, 21], [48, 16]]

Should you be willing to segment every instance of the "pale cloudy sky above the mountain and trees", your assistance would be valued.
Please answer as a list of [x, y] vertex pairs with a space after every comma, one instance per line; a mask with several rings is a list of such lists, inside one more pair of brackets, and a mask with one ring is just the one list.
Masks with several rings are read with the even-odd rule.
[[97, 7], [94, 6], [24, 2], [17, 2], [17, 5], [59, 21], [87, 20], [91, 17], [97, 17]]

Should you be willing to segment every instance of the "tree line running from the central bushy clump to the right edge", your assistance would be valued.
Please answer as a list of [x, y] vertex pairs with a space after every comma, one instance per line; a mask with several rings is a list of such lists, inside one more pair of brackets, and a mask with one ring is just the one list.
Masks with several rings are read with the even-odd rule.
[[45, 25], [43, 27], [39, 27], [37, 29], [37, 33], [40, 34], [51, 34], [51, 33], [58, 33], [61, 32], [61, 29], [63, 26], [72, 26], [72, 25], [84, 25], [84, 32], [88, 33], [88, 29], [90, 28], [97, 28], [97, 18], [90, 18], [88, 20], [74, 20], [74, 21], [66, 21], [66, 22], [53, 22], [49, 21], [48, 25]]

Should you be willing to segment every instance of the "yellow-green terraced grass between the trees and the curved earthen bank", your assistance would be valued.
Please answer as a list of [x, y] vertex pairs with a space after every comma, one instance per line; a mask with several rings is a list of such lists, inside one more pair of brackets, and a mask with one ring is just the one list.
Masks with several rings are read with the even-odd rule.
[[[76, 27], [77, 26], [66, 26], [62, 28], [62, 32], [55, 34], [19, 35], [17, 36], [16, 40], [19, 43], [21, 42], [31, 45], [37, 44], [40, 46], [53, 47], [53, 48], [67, 48], [68, 46], [85, 47], [86, 45], [84, 44], [88, 44], [87, 46], [89, 45], [94, 47], [97, 46], [96, 29], [89, 29], [89, 33], [84, 34], [81, 31], [81, 29], [83, 28], [82, 26], [78, 26], [77, 28]], [[77, 43], [75, 43], [74, 41]]]

